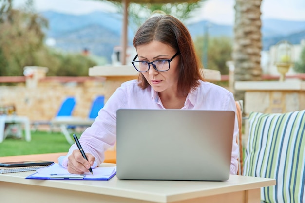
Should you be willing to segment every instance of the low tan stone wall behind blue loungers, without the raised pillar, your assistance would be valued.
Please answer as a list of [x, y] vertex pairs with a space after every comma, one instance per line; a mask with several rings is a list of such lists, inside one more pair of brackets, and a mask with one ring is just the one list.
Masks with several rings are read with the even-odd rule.
[[86, 81], [83, 83], [44, 82], [37, 87], [25, 85], [0, 86], [0, 105], [16, 107], [17, 115], [28, 116], [31, 121], [54, 118], [62, 101], [68, 96], [76, 98], [74, 116], [88, 117], [91, 104], [96, 96], [104, 95], [105, 102], [121, 82]]

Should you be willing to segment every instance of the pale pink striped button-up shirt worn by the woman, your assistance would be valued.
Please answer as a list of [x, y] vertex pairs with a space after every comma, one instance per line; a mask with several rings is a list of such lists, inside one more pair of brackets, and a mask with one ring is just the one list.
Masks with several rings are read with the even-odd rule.
[[[116, 141], [116, 110], [118, 109], [165, 109], [158, 93], [151, 86], [142, 90], [137, 85], [137, 80], [123, 83], [108, 99], [103, 109], [98, 112], [94, 123], [81, 135], [79, 141], [86, 153], [95, 157], [94, 166], [104, 161], [104, 151], [115, 145]], [[210, 82], [200, 82], [200, 86], [191, 91], [182, 109], [196, 110], [231, 110], [236, 112], [233, 94], [223, 87]], [[190, 129], [191, 130], [191, 129]], [[237, 158], [239, 148], [236, 143], [238, 122], [235, 117], [235, 126], [230, 173], [236, 174], [238, 169]], [[68, 155], [78, 149], [75, 144], [69, 149]], [[68, 156], [67, 155], [67, 156]], [[59, 164], [67, 167], [67, 156], [60, 157]]]

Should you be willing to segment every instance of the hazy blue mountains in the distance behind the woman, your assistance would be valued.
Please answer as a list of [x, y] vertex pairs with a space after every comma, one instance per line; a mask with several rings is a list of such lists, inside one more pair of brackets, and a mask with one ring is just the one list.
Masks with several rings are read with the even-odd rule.
[[[85, 15], [63, 14], [54, 11], [42, 12], [49, 21], [46, 37], [55, 40], [54, 47], [68, 52], [89, 50], [92, 54], [104, 56], [111, 62], [114, 46], [121, 43], [123, 16], [118, 13], [93, 12]], [[233, 26], [209, 21], [186, 24], [192, 37], [209, 34], [211, 37], [233, 37]], [[132, 46], [136, 25], [129, 21], [128, 44]], [[280, 40], [299, 44], [305, 39], [305, 21], [262, 19], [263, 50]]]

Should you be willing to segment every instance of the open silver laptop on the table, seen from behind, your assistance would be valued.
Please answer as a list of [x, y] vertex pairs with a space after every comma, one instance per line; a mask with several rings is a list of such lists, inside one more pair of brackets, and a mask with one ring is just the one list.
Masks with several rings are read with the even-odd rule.
[[229, 179], [234, 111], [117, 111], [117, 178]]

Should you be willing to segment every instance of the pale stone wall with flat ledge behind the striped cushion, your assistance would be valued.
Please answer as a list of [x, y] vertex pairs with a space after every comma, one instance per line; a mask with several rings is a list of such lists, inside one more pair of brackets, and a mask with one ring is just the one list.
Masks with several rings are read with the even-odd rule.
[[235, 89], [246, 91], [244, 113], [285, 113], [305, 109], [305, 82], [299, 79], [286, 81], [237, 81]]

